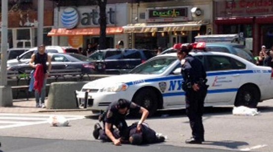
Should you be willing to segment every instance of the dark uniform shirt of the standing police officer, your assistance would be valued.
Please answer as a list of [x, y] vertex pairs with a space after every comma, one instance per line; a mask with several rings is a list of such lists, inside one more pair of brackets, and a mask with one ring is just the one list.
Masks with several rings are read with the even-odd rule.
[[[201, 66], [200, 66], [201, 65]], [[182, 77], [184, 82], [190, 82], [191, 86], [194, 83], [198, 83], [200, 81], [200, 78], [203, 80], [206, 79], [207, 74], [204, 69], [204, 66], [202, 65], [202, 62], [199, 61], [197, 58], [194, 58], [192, 55], [187, 55], [185, 57], [185, 62], [182, 65]]]

